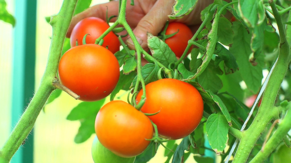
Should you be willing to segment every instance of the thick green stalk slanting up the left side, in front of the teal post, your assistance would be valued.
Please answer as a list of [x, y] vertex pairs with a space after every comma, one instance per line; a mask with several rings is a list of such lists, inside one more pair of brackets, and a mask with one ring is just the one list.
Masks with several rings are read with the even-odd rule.
[[77, 0], [64, 0], [60, 12], [51, 19], [50, 24], [53, 27], [53, 33], [44, 75], [32, 101], [2, 147], [0, 151], [0, 163], [9, 163], [12, 156], [33, 129], [39, 112], [45, 105], [51, 92], [55, 89], [52, 82], [55, 80], [63, 43], [73, 17], [76, 3]]

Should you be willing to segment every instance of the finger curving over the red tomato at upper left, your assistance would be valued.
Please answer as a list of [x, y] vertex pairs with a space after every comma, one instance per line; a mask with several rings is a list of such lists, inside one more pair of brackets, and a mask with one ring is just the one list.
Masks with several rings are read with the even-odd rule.
[[[79, 14], [76, 14], [73, 17], [71, 25], [68, 29], [67, 37], [71, 36], [73, 27], [84, 18], [98, 17], [98, 18], [106, 21], [107, 10], [108, 10], [108, 17], [113, 16], [113, 15], [117, 16], [118, 15], [118, 6], [119, 6], [118, 0], [113, 0], [113, 1], [109, 1], [108, 3], [94, 5], [88, 9], [86, 9], [85, 11], [83, 11]], [[114, 21], [114, 20], [112, 20], [112, 21]]]

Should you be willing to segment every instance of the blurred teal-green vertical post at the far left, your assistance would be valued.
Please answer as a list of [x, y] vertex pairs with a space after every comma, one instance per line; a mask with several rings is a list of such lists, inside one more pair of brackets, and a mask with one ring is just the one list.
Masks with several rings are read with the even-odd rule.
[[[36, 0], [15, 0], [13, 40], [12, 126], [33, 97], [36, 61]], [[13, 156], [11, 163], [33, 163], [34, 136]]]

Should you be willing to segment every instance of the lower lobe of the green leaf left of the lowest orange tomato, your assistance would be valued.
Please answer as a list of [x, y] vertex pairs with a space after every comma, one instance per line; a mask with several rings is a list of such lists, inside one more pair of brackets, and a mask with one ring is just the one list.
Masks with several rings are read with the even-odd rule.
[[82, 143], [91, 137], [92, 134], [95, 133], [95, 118], [96, 115], [91, 115], [86, 119], [83, 119], [81, 122], [81, 126], [79, 127], [78, 133], [74, 138], [75, 143]]

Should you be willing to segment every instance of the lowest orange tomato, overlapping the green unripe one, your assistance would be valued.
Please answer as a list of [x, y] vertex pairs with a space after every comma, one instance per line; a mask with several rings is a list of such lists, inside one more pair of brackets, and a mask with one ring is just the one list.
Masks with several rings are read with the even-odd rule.
[[103, 106], [95, 120], [96, 135], [106, 148], [121, 157], [141, 154], [153, 136], [153, 127], [144, 113], [123, 101]]

